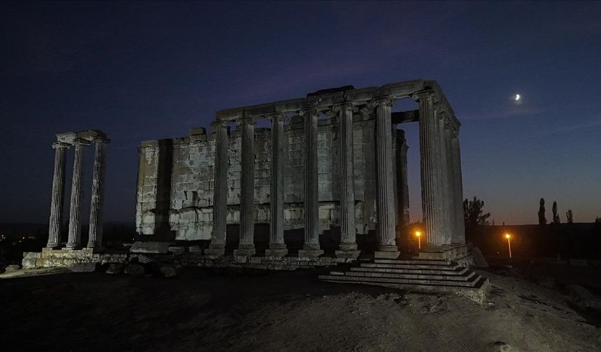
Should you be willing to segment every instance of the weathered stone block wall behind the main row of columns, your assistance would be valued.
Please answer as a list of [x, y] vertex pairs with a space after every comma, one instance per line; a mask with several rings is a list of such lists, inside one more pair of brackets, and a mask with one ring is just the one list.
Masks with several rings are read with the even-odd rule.
[[[319, 227], [338, 226], [339, 146], [335, 119], [318, 122]], [[270, 129], [254, 131], [255, 223], [269, 223], [271, 141]], [[374, 120], [354, 117], [354, 187], [356, 232], [375, 229]], [[227, 222], [240, 221], [240, 132], [229, 133]], [[304, 226], [305, 138], [301, 117], [284, 126], [284, 230]], [[394, 155], [394, 154], [393, 154]], [[396, 156], [394, 156], [396, 158]], [[203, 129], [186, 138], [154, 140], [140, 146], [136, 229], [156, 235], [159, 229], [169, 240], [209, 240], [212, 232], [212, 197], [215, 140]], [[396, 161], [395, 161], [396, 163]], [[395, 171], [400, 168], [398, 165]], [[167, 194], [163, 189], [168, 189]], [[391, 190], [393, 191], [393, 190]]]

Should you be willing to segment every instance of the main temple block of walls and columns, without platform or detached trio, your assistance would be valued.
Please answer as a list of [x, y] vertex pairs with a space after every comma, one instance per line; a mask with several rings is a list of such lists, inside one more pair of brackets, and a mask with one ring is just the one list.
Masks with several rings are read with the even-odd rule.
[[[419, 109], [391, 112], [409, 98]], [[265, 126], [259, 128], [256, 125]], [[464, 244], [459, 122], [434, 81], [324, 89], [303, 98], [217, 112], [212, 133], [140, 146], [136, 228], [148, 240], [210, 240], [222, 256], [227, 226], [235, 255], [256, 254], [257, 224], [269, 226], [267, 256], [289, 253], [284, 231], [302, 230], [298, 256], [320, 256], [320, 235], [340, 228], [337, 256], [354, 258], [358, 235], [375, 230], [376, 257], [396, 258], [407, 222], [403, 123], [419, 123], [425, 252]]]

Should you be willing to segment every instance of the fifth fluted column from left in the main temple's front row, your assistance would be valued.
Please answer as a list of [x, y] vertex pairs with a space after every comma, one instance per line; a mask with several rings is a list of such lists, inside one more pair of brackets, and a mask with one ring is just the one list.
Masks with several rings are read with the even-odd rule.
[[357, 258], [355, 234], [355, 177], [353, 174], [353, 111], [352, 103], [334, 107], [338, 112], [339, 170], [340, 170], [340, 246], [338, 258]]

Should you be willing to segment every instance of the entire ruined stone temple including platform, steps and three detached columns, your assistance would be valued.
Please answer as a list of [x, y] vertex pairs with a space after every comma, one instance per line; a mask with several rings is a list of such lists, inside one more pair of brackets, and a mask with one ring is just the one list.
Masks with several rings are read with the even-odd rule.
[[[417, 110], [393, 112], [399, 99], [413, 99]], [[399, 126], [410, 122], [419, 124], [424, 238], [417, 255], [401, 243], [410, 236], [402, 232], [407, 168], [417, 166], [407, 165]], [[440, 87], [427, 80], [218, 111], [210, 134], [199, 128], [185, 138], [142, 142], [136, 242], [126, 248], [101, 246], [106, 135], [60, 133], [48, 246], [25, 253], [23, 266], [95, 270], [158, 260], [248, 270], [331, 267], [319, 279], [452, 291], [481, 302], [490, 284], [467, 267], [459, 126]], [[92, 143], [89, 240], [81, 248], [82, 155]], [[59, 248], [71, 146], [68, 239]]]

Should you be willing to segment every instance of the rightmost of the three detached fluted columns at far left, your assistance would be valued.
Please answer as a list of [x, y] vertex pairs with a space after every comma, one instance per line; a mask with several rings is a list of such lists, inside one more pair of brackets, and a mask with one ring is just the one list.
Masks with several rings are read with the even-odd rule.
[[88, 248], [102, 247], [102, 210], [104, 205], [105, 148], [108, 140], [94, 140], [94, 171], [92, 173], [92, 201], [89, 205]]

